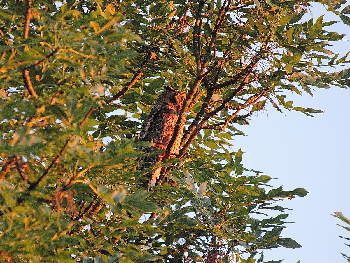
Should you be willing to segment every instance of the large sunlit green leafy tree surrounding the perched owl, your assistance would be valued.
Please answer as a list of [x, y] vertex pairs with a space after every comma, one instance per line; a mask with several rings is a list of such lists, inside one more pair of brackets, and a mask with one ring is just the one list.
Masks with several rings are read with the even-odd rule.
[[[307, 191], [273, 189], [232, 140], [268, 104], [322, 113], [290, 93], [349, 87], [349, 68], [329, 71], [349, 62], [328, 50], [335, 22], [303, 21], [312, 2], [2, 3], [0, 258], [244, 263], [300, 247], [276, 202]], [[345, 0], [315, 2], [350, 24]], [[180, 153], [158, 164], [177, 184], [147, 191], [138, 135], [165, 83], [187, 93]]]

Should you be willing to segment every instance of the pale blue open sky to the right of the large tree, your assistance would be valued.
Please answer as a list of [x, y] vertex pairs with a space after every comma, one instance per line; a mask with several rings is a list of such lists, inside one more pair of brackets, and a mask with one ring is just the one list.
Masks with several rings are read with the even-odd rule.
[[[339, 20], [322, 5], [311, 7], [307, 20], [313, 17], [315, 21], [323, 14], [323, 22]], [[341, 22], [325, 29], [348, 34], [345, 38], [350, 39], [350, 27]], [[338, 58], [350, 50], [350, 41], [332, 44], [335, 46], [331, 50], [341, 53]], [[340, 252], [350, 256], [346, 240], [338, 237], [350, 238], [350, 232], [336, 225], [342, 221], [331, 216], [341, 211], [350, 218], [350, 90], [332, 87], [313, 93], [313, 98], [306, 92], [303, 96], [290, 94], [286, 101], [294, 101], [293, 106], [323, 110], [323, 114], [315, 114], [317, 118], [287, 110], [283, 115], [267, 106], [264, 113], [251, 116], [251, 125], [237, 127], [248, 135], [236, 136], [233, 147], [246, 152], [242, 161], [246, 168], [278, 178], [270, 181], [275, 188], [283, 185], [283, 190], [304, 188], [310, 192], [281, 202], [282, 207], [293, 209], [286, 210], [290, 214], [287, 221], [295, 222], [286, 224], [282, 234], [302, 248], [264, 251], [264, 261], [345, 263]]]

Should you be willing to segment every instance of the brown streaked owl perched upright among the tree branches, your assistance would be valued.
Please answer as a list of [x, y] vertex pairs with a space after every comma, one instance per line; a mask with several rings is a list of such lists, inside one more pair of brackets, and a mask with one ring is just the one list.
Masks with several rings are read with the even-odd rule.
[[[180, 110], [182, 108], [183, 101], [186, 97], [184, 92], [179, 92], [169, 86], [164, 87], [158, 98], [155, 100], [154, 105], [149, 113], [147, 119], [142, 124], [140, 141], [153, 142], [154, 146], [143, 149], [144, 153], [152, 153], [155, 150], [166, 150], [170, 139], [173, 136], [175, 124], [179, 117]], [[179, 136], [177, 136], [174, 146], [172, 147], [170, 154], [176, 156], [179, 153], [181, 135], [183, 126], [180, 127]], [[164, 161], [165, 153], [148, 155], [141, 157], [139, 161], [140, 169], [149, 168], [155, 164]], [[159, 176], [165, 169], [162, 167], [156, 168], [152, 173], [148, 174], [148, 182], [143, 182], [142, 186], [150, 188], [156, 186], [159, 182]]]

